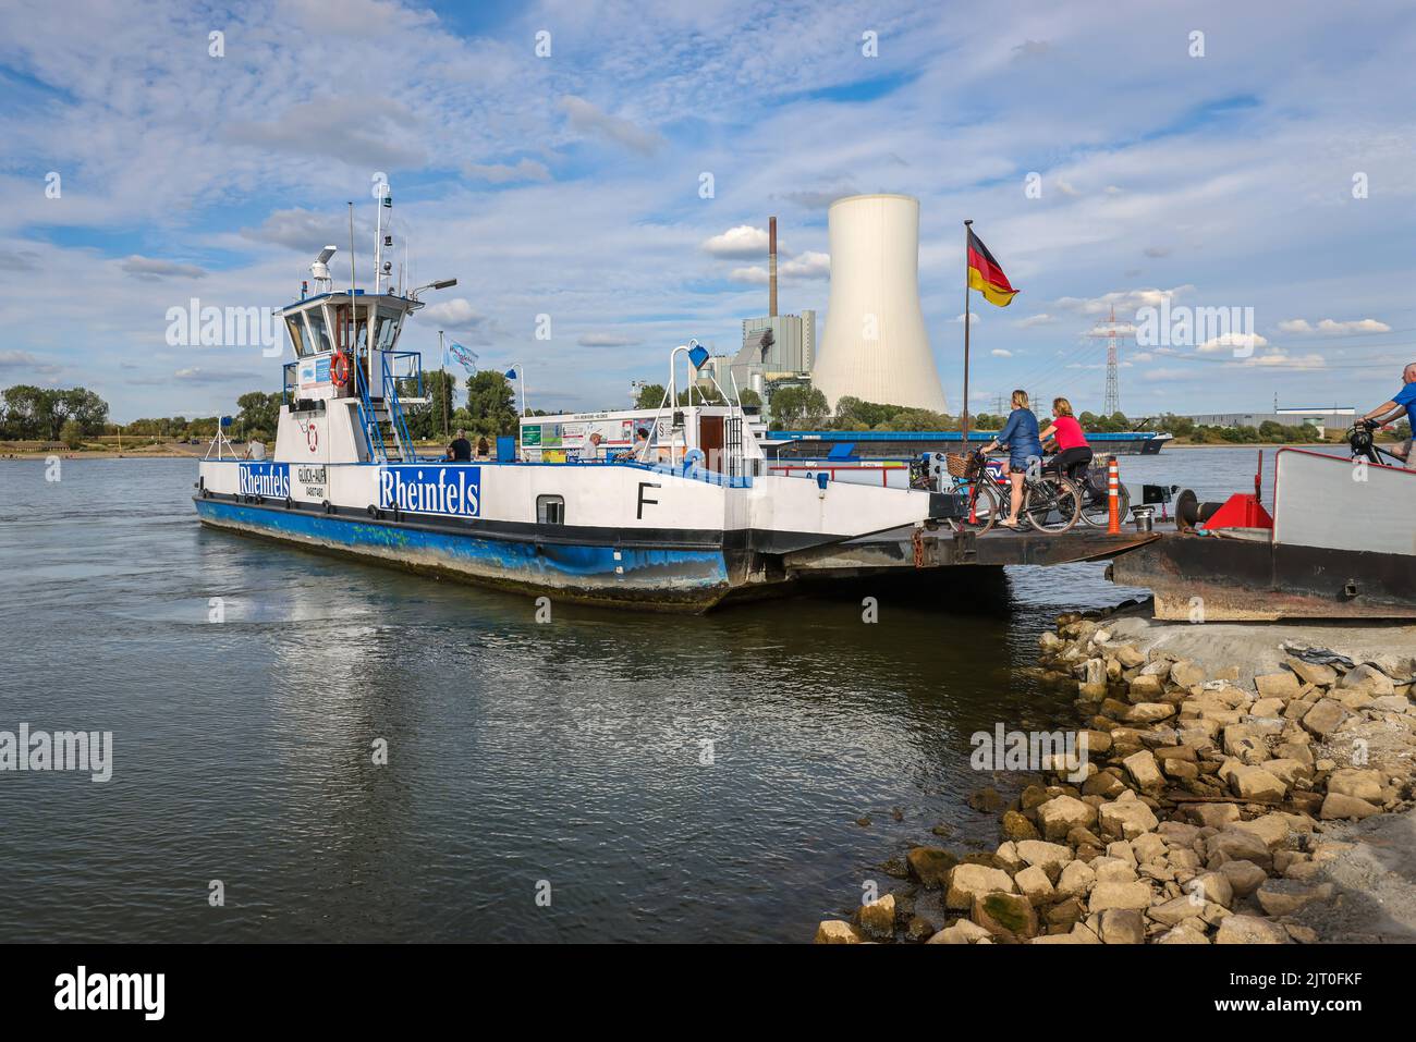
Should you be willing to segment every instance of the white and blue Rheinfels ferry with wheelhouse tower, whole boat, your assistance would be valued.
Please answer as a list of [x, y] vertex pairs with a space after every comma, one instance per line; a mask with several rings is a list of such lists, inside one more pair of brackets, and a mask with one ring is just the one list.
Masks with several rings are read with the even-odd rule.
[[[792, 586], [789, 555], [933, 529], [954, 504], [929, 490], [772, 473], [743, 433], [741, 403], [677, 405], [678, 388], [691, 395], [695, 382], [681, 384], [678, 370], [708, 355], [692, 341], [670, 353], [668, 389], [639, 445], [629, 437], [640, 440], [643, 418], [603, 413], [555, 432], [523, 418], [515, 459], [422, 456], [405, 416], [426, 401], [422, 357], [399, 340], [419, 293], [455, 280], [392, 286], [385, 244], [379, 225], [370, 292], [353, 270], [334, 289], [336, 248], [326, 246], [310, 266], [313, 294], [282, 309], [295, 361], [273, 452], [238, 459], [218, 432], [194, 497], [204, 524], [530, 593], [702, 612]], [[578, 446], [598, 429], [615, 445], [590, 460]]]

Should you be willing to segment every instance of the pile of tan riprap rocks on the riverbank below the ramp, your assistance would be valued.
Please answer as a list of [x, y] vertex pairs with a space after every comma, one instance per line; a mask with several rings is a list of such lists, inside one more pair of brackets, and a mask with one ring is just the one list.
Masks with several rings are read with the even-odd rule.
[[1042, 765], [1012, 800], [993, 779], [969, 798], [998, 818], [993, 854], [912, 848], [909, 881], [817, 943], [1323, 940], [1296, 916], [1341, 900], [1324, 865], [1349, 845], [1324, 831], [1416, 796], [1416, 661], [1294, 657], [1250, 685], [1113, 640], [1095, 614], [1039, 644], [1044, 682], [1078, 697], [1086, 770]]

